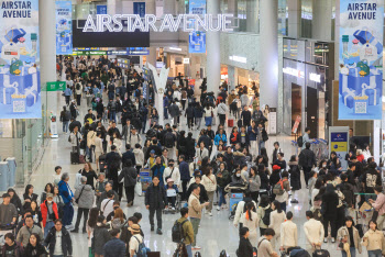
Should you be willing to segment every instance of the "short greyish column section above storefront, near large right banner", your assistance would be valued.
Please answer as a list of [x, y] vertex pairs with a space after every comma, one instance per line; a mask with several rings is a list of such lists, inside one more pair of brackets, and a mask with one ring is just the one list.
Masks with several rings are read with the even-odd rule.
[[312, 0], [312, 38], [331, 41], [331, 0]]

